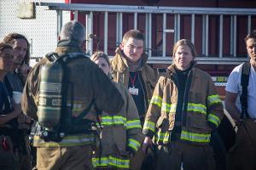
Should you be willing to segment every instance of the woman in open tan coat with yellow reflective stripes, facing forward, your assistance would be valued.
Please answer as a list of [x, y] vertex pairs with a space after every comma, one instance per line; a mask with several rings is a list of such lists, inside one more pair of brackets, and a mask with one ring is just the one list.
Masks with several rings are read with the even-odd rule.
[[[160, 77], [143, 126], [143, 150], [161, 146], [158, 169], [215, 169], [211, 133], [224, 116], [212, 77], [195, 68], [195, 47], [182, 39], [173, 48], [173, 61]], [[166, 153], [166, 154], [165, 154]]]

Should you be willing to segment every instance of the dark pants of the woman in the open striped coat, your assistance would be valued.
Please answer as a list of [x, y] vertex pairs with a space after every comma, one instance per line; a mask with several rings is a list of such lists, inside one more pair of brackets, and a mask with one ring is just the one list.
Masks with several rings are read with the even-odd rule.
[[160, 147], [157, 170], [215, 170], [210, 144], [195, 145], [173, 141], [169, 148]]

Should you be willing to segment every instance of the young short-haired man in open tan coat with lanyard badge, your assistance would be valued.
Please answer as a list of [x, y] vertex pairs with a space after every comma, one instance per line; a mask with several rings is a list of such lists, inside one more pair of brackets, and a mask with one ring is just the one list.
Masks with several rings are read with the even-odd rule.
[[[143, 33], [137, 30], [127, 31], [115, 52], [110, 61], [113, 81], [120, 82], [129, 89], [143, 125], [148, 102], [158, 79], [157, 72], [146, 64], [148, 56], [144, 53]], [[131, 160], [131, 167], [140, 169], [142, 161], [141, 148]]]

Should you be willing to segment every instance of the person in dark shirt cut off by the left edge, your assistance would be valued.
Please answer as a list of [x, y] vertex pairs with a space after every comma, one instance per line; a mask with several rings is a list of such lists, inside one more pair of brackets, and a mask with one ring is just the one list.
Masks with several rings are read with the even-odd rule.
[[3, 78], [13, 65], [14, 51], [10, 44], [0, 42], [0, 169], [16, 170], [13, 139], [16, 118], [20, 115], [20, 104], [10, 98]]

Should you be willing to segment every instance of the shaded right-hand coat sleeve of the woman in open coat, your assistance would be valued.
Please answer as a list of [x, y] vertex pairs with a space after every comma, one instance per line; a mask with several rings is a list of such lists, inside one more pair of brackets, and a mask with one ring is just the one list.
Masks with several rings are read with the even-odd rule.
[[209, 77], [207, 93], [207, 122], [212, 130], [218, 127], [224, 116], [222, 101], [219, 98], [212, 78]]

